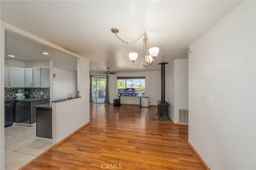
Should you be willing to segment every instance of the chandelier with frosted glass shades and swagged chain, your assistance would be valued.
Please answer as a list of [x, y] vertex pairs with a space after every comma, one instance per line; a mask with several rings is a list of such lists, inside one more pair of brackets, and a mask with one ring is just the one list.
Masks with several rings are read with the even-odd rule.
[[129, 53], [129, 57], [130, 60], [132, 61], [132, 63], [136, 66], [142, 67], [142, 65], [140, 65], [141, 61], [143, 62], [142, 58], [144, 58], [144, 63], [143, 63], [143, 67], [149, 67], [150, 65], [153, 64], [154, 59], [156, 59], [156, 56], [158, 55], [159, 52], [159, 48], [158, 47], [152, 47], [150, 49], [148, 49], [148, 34], [146, 33], [146, 31], [140, 36], [140, 38], [138, 38], [136, 41], [134, 42], [125, 42], [124, 40], [122, 40], [121, 38], [119, 38], [117, 36], [117, 33], [119, 32], [119, 30], [117, 28], [111, 28], [111, 31], [116, 35], [116, 37], [121, 40], [123, 43], [127, 43], [127, 44], [133, 44], [136, 43], [138, 40], [140, 40], [143, 36], [143, 50], [142, 50], [142, 54], [140, 56], [140, 59], [137, 63], [135, 63], [137, 57], [138, 57], [138, 53]]

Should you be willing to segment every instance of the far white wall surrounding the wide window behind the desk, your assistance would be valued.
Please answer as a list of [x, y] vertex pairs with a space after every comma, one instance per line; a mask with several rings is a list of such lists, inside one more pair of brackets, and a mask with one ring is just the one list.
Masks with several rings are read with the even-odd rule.
[[[161, 71], [128, 71], [109, 76], [108, 87], [110, 103], [113, 103], [114, 99], [118, 98], [116, 77], [122, 76], [145, 76], [145, 96], [149, 97], [150, 105], [157, 105], [157, 101], [161, 100]], [[140, 104], [140, 99], [134, 99], [134, 97], [121, 97], [121, 103]]]

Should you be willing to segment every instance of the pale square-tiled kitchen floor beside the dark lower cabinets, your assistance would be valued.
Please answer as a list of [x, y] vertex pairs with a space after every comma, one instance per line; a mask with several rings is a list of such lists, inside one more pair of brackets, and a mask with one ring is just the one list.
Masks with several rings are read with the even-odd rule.
[[52, 147], [50, 142], [38, 141], [36, 126], [13, 125], [4, 128], [5, 169], [18, 170]]

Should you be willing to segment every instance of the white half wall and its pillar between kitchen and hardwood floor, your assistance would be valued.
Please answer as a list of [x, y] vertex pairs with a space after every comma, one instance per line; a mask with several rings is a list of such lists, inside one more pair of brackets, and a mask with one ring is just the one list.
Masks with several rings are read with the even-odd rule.
[[77, 88], [81, 98], [52, 103], [53, 144], [60, 142], [90, 121], [89, 60], [78, 59], [77, 70]]

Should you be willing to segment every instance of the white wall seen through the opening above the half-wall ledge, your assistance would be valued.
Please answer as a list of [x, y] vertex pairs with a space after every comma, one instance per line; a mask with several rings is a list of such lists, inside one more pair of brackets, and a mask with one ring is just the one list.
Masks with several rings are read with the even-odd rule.
[[53, 87], [53, 100], [68, 98], [68, 93], [76, 95], [77, 90], [77, 72], [53, 68], [53, 74], [56, 74], [55, 78], [52, 78]]

